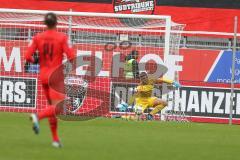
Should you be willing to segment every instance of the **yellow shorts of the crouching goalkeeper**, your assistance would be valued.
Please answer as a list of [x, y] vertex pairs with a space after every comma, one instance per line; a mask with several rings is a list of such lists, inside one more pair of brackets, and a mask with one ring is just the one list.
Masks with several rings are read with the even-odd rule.
[[138, 97], [136, 98], [136, 105], [141, 106], [142, 110], [144, 111], [147, 108], [153, 107], [154, 101], [157, 99], [157, 97]]

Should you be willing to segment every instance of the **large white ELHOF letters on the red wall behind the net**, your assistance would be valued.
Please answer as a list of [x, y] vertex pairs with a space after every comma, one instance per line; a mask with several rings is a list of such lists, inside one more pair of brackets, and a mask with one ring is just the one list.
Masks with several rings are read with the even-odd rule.
[[[125, 61], [121, 59], [121, 53], [113, 52], [112, 57], [108, 58], [101, 51], [95, 51], [94, 53], [94, 51], [90, 50], [78, 50], [76, 75], [123, 78], [124, 76], [120, 73], [120, 70], [124, 69]], [[111, 65], [108, 65], [109, 60]], [[153, 77], [160, 77], [164, 74], [168, 78], [174, 78], [176, 72], [182, 71], [182, 66], [177, 64], [182, 60], [182, 56], [169, 55], [164, 62], [164, 59], [158, 54], [145, 53], [139, 58], [139, 70], [147, 71]]]

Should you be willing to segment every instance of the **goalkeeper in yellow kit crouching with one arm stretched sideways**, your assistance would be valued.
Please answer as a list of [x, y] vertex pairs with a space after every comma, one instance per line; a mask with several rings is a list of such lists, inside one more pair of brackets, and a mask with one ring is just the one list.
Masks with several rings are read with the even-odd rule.
[[[176, 88], [181, 87], [178, 82], [174, 82], [169, 79], [159, 78], [150, 79], [146, 72], [141, 72], [139, 75], [140, 84], [137, 86], [137, 92], [130, 98], [129, 104], [133, 104], [135, 101], [135, 106], [140, 107], [142, 113], [148, 108], [154, 108], [148, 115], [147, 119], [152, 120], [153, 116], [161, 111], [167, 106], [167, 102], [152, 96], [152, 91], [154, 89], [154, 84], [167, 83], [171, 84]], [[136, 108], [135, 108], [136, 109]]]

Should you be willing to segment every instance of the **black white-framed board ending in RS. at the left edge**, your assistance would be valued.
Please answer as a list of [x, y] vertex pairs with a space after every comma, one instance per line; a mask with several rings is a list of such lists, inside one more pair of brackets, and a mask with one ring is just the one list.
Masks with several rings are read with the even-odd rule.
[[0, 76], [0, 107], [36, 107], [37, 79]]

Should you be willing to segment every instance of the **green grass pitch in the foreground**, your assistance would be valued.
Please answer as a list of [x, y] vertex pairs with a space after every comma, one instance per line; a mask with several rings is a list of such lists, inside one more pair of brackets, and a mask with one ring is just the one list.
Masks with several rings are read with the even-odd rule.
[[60, 121], [61, 149], [51, 146], [47, 121], [34, 135], [27, 114], [0, 113], [0, 160], [239, 160], [240, 126]]

